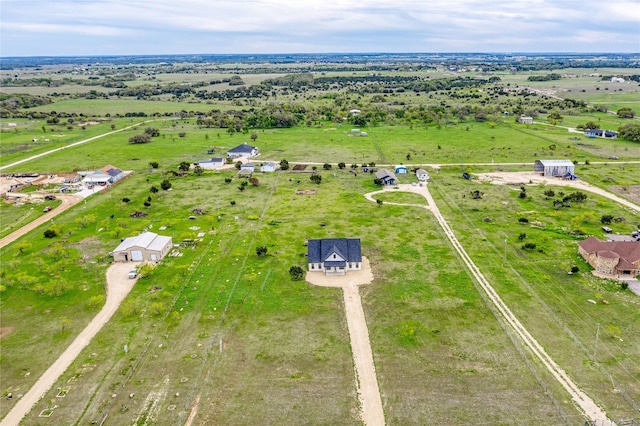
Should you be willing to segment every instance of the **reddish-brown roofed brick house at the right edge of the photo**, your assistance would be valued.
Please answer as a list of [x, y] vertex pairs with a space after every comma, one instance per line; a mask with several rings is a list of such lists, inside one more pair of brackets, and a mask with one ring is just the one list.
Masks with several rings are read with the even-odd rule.
[[578, 243], [578, 253], [594, 268], [594, 275], [615, 278], [640, 274], [640, 241], [589, 237]]

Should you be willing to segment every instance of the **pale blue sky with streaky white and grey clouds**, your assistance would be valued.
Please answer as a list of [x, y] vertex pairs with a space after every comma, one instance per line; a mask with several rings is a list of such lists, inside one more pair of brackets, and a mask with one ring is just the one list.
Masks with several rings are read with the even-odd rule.
[[0, 56], [640, 52], [640, 0], [0, 0]]

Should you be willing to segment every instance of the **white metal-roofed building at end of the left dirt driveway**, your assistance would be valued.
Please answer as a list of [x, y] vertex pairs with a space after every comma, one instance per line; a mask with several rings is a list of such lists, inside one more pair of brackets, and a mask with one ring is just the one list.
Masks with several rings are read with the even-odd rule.
[[115, 262], [156, 262], [164, 258], [172, 247], [171, 237], [143, 232], [122, 240], [111, 255]]

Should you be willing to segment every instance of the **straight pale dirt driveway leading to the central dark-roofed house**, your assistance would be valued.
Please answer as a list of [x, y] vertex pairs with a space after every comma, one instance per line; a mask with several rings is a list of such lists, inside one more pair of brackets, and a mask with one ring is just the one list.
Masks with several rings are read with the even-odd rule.
[[356, 386], [361, 407], [360, 416], [365, 426], [384, 425], [382, 398], [380, 398], [376, 368], [373, 363], [367, 320], [362, 309], [358, 288], [360, 285], [373, 281], [369, 261], [363, 257], [362, 270], [349, 271], [346, 275], [327, 276], [322, 272], [307, 272], [306, 280], [313, 285], [342, 289], [351, 352], [356, 368]]

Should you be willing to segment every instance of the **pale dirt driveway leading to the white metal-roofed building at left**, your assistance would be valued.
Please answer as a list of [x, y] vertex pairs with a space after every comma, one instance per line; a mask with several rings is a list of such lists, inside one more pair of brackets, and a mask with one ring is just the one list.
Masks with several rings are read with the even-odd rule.
[[78, 337], [58, 357], [58, 359], [42, 374], [38, 381], [16, 403], [7, 416], [2, 419], [0, 426], [17, 426], [31, 408], [55, 384], [58, 378], [69, 368], [80, 352], [91, 342], [91, 339], [109, 322], [113, 314], [120, 307], [120, 303], [136, 283], [136, 279], [129, 279], [127, 272], [135, 266], [134, 263], [114, 263], [107, 269], [107, 300], [89, 325], [80, 332]]

